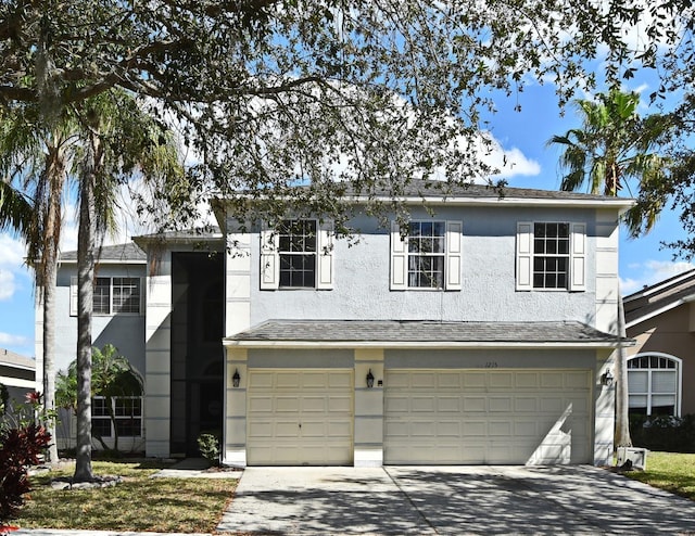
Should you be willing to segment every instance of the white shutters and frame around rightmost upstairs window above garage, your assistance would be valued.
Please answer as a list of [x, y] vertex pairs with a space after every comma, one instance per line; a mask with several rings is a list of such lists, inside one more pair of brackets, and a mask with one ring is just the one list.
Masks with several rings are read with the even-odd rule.
[[[533, 225], [568, 224], [570, 235], [569, 273], [567, 289], [536, 289], [533, 286]], [[584, 292], [586, 290], [586, 224], [568, 221], [517, 222], [517, 291]]]

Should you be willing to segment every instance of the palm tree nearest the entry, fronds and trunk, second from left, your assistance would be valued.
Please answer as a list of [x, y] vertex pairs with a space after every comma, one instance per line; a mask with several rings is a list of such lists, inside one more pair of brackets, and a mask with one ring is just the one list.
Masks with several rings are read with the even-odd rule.
[[93, 480], [91, 470], [91, 317], [96, 244], [115, 228], [115, 191], [141, 174], [149, 181], [182, 176], [178, 148], [165, 126], [134, 97], [112, 90], [75, 111], [83, 138], [77, 239], [77, 454], [74, 480]]

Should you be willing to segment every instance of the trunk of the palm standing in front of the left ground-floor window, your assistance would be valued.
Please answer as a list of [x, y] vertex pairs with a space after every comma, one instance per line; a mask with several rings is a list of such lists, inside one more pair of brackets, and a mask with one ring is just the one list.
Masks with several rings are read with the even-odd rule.
[[94, 281], [94, 187], [101, 143], [91, 132], [80, 177], [77, 232], [77, 455], [75, 482], [94, 478], [91, 469], [91, 317]]

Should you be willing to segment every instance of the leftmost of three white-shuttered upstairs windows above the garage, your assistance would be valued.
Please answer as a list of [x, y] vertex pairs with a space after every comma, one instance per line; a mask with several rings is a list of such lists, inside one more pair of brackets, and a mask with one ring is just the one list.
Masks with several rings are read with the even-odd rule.
[[261, 289], [333, 288], [332, 224], [287, 219], [261, 232]]

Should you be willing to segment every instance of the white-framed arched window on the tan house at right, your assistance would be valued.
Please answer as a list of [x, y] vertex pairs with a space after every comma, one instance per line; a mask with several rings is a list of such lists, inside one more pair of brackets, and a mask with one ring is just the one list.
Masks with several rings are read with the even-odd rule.
[[657, 352], [628, 359], [630, 412], [681, 416], [681, 359]]

